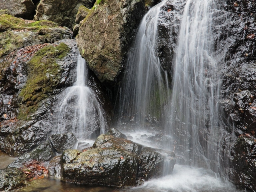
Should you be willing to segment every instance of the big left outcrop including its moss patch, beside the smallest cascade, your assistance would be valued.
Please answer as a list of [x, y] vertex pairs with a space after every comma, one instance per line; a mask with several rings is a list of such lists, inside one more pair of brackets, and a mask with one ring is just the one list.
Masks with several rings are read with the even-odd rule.
[[[46, 140], [59, 94], [63, 86], [70, 86], [74, 80], [76, 58], [76, 42], [67, 39], [21, 48], [0, 59], [1, 150], [17, 156]], [[40, 72], [31, 70], [38, 61], [45, 68], [40, 65]], [[48, 78], [48, 68], [57, 73]], [[48, 79], [46, 84], [40, 80], [44, 77]], [[40, 86], [37, 91], [36, 86]]]

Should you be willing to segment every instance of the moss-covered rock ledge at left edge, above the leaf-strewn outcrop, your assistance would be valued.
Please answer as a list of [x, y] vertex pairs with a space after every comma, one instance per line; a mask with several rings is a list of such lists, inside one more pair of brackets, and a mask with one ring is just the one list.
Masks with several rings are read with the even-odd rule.
[[18, 48], [70, 38], [70, 30], [60, 28], [51, 21], [27, 23], [20, 18], [3, 14], [0, 15], [0, 23], [0, 57]]

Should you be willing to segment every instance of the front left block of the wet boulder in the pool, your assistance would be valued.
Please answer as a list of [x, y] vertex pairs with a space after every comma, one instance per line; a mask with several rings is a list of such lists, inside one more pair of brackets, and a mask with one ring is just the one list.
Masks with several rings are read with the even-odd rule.
[[70, 163], [61, 164], [62, 178], [83, 184], [135, 186], [138, 164], [137, 156], [132, 153], [94, 148], [76, 155]]

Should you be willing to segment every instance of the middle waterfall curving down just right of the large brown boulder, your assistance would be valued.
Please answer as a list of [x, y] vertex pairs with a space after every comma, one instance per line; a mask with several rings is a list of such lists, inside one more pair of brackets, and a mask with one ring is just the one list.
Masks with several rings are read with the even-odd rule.
[[158, 124], [168, 101], [167, 74], [157, 56], [159, 3], [142, 19], [136, 39], [128, 52], [123, 84], [120, 88], [118, 121], [143, 127]]

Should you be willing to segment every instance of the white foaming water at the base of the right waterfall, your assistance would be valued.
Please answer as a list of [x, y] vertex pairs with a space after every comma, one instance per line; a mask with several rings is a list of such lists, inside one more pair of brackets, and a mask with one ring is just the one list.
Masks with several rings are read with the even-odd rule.
[[145, 182], [125, 192], [238, 192], [232, 184], [203, 168], [175, 165], [171, 175]]

